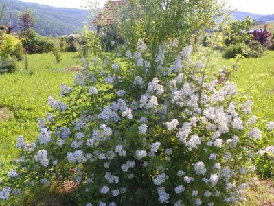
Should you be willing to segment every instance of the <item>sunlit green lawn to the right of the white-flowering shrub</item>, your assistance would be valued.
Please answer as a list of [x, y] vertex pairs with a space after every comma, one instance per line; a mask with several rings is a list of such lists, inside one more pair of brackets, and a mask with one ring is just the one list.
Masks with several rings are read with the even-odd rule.
[[[214, 71], [231, 65], [220, 52], [212, 54], [210, 65]], [[240, 93], [247, 93], [253, 100], [253, 113], [266, 120], [274, 119], [274, 51], [265, 52], [262, 58], [240, 60], [239, 70], [231, 78], [238, 85]]]

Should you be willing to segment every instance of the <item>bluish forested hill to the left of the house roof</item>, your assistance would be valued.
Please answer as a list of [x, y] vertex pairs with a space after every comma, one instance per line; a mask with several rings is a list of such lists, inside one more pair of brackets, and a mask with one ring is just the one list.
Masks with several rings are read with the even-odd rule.
[[[56, 0], [58, 1], [58, 0]], [[76, 0], [77, 1], [77, 0]], [[24, 11], [25, 8], [30, 8], [35, 12], [38, 23], [34, 27], [38, 34], [44, 36], [58, 36], [71, 34], [82, 30], [84, 22], [88, 22], [88, 10], [80, 10], [73, 8], [55, 8], [47, 5], [39, 5], [36, 3], [26, 3], [19, 0], [0, 0], [0, 3], [5, 2], [7, 9], [5, 18], [2, 23], [10, 22], [10, 10], [12, 11], [12, 21], [15, 30], [16, 26], [16, 12]]]

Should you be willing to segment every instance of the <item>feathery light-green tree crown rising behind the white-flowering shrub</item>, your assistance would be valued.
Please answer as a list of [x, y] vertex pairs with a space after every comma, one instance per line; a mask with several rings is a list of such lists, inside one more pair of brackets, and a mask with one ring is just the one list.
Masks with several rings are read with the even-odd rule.
[[143, 39], [157, 55], [158, 45], [176, 42], [176, 52], [214, 27], [221, 16], [216, 0], [130, 0], [122, 8], [119, 34], [129, 42]]

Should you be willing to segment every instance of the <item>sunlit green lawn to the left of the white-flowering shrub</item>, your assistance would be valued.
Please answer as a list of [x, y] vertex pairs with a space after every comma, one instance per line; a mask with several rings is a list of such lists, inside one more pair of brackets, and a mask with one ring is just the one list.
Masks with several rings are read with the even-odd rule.
[[35, 54], [28, 56], [28, 64], [28, 71], [19, 62], [15, 73], [0, 76], [0, 165], [14, 158], [19, 135], [36, 138], [36, 121], [47, 113], [47, 98], [59, 98], [62, 82], [72, 84], [74, 73], [66, 68], [80, 65], [80, 60], [76, 54], [64, 53], [56, 64], [52, 54]]

